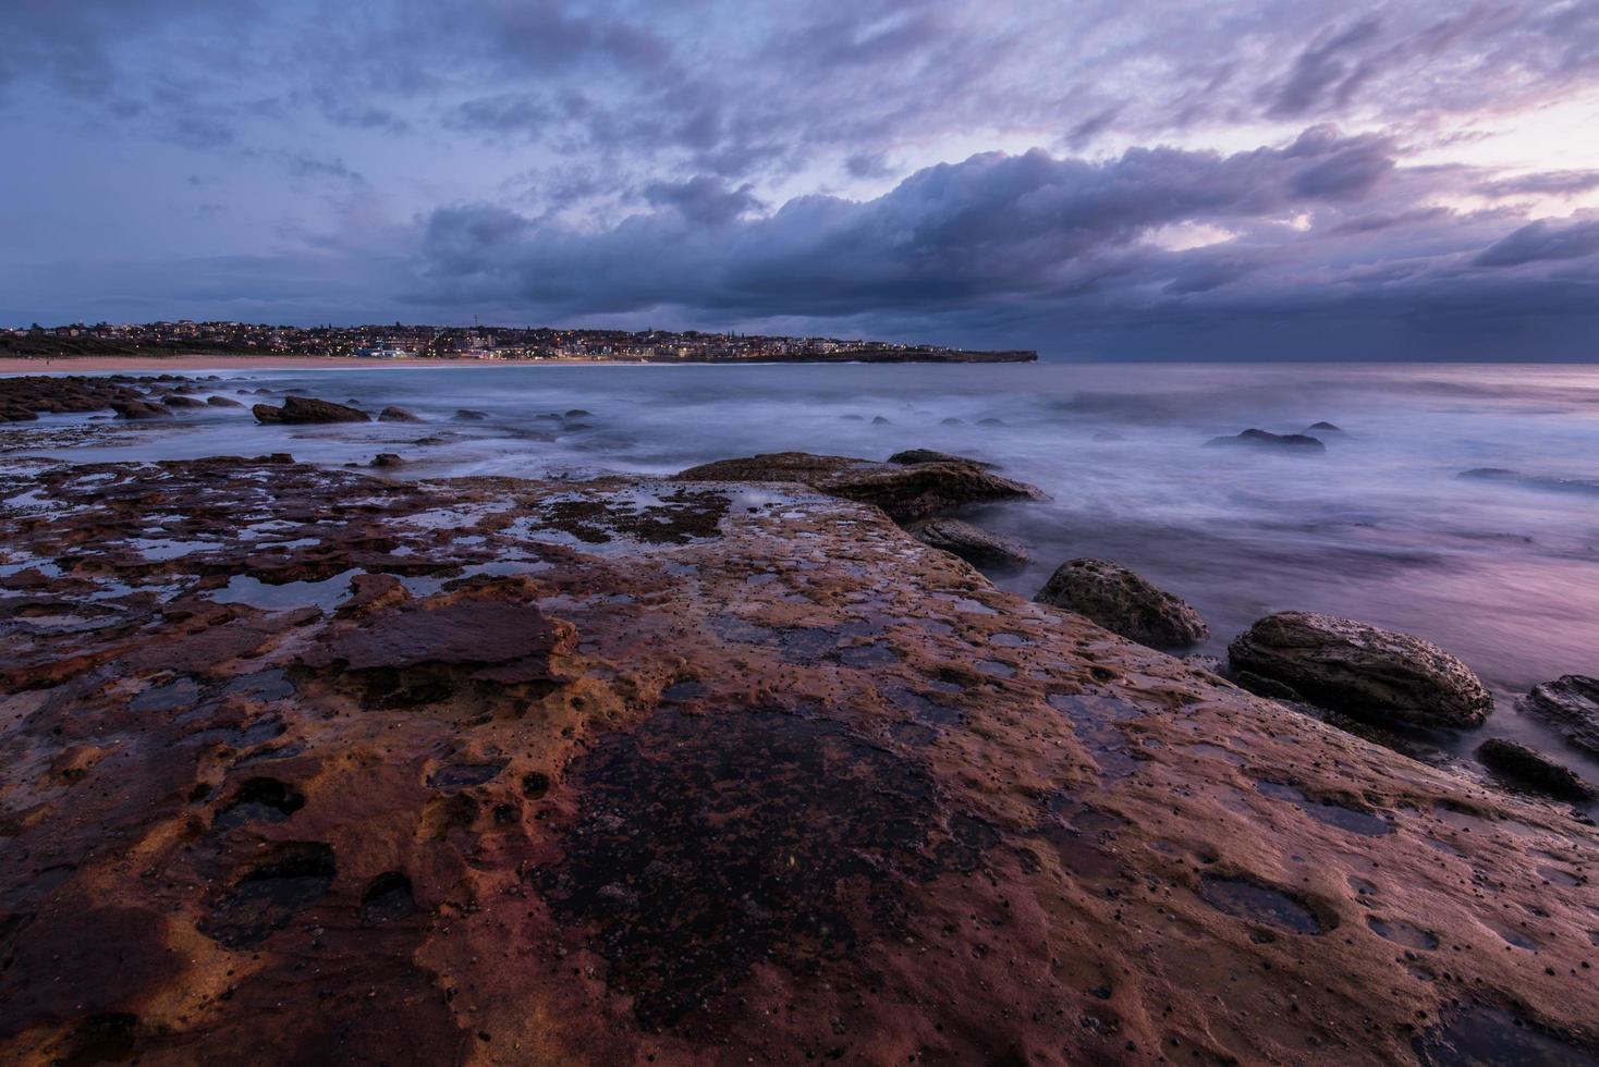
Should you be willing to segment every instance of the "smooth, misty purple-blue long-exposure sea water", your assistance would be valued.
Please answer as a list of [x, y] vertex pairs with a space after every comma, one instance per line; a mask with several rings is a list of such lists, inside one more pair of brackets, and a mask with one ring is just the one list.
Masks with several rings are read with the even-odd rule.
[[[676, 471], [753, 452], [883, 458], [931, 447], [999, 463], [1044, 503], [985, 508], [1035, 565], [1126, 564], [1193, 602], [1210, 650], [1273, 610], [1313, 609], [1420, 634], [1501, 696], [1599, 674], [1599, 495], [1460, 479], [1503, 466], [1599, 481], [1599, 367], [1572, 366], [537, 366], [224, 371], [217, 391], [304, 388], [425, 425], [257, 426], [185, 417], [80, 458], [293, 452], [320, 463], [398, 452], [406, 476]], [[483, 422], [456, 422], [477, 409]], [[552, 412], [585, 409], [572, 420]], [[887, 418], [875, 425], [875, 417]], [[959, 418], [958, 425], [945, 425]], [[1001, 425], [980, 425], [996, 418]], [[1207, 449], [1247, 426], [1330, 420], [1324, 455]], [[445, 444], [413, 444], [448, 434]], [[1501, 714], [1497, 732], [1517, 732]], [[1581, 762], [1573, 759], [1572, 762]]]

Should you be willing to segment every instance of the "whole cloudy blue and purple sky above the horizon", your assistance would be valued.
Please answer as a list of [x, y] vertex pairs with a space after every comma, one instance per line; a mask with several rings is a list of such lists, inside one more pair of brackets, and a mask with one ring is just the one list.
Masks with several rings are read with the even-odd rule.
[[0, 324], [1599, 359], [1599, 0], [0, 0]]

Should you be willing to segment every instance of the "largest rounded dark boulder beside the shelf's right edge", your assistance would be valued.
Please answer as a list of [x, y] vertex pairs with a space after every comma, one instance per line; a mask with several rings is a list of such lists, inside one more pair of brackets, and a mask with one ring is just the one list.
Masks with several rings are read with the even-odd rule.
[[1226, 652], [1234, 671], [1359, 719], [1477, 727], [1493, 711], [1482, 680], [1438, 645], [1337, 615], [1278, 612]]

